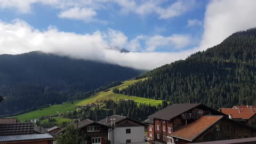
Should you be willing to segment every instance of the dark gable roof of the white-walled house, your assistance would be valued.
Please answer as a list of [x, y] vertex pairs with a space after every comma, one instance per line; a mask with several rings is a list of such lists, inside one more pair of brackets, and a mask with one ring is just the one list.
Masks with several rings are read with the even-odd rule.
[[124, 119], [129, 119], [130, 121], [133, 121], [133, 122], [135, 122], [135, 123], [139, 123], [139, 124], [141, 124], [141, 125], [146, 125], [145, 123], [136, 121], [136, 120], [131, 119], [131, 118], [126, 117], [126, 116], [120, 116], [120, 115], [111, 115], [111, 116], [109, 116], [109, 117], [106, 117], [106, 118], [104, 118], [104, 119], [101, 119], [101, 120], [99, 121], [99, 123], [110, 125], [111, 119], [115, 119], [115, 123], [116, 123], [116, 124], [118, 124], [119, 122], [122, 122]]

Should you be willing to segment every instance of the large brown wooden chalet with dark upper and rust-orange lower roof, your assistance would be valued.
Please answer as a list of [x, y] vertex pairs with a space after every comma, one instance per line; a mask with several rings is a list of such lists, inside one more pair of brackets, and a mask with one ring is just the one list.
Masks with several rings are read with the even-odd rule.
[[[252, 137], [254, 129], [242, 125], [228, 118], [228, 115], [218, 110], [212, 109], [200, 103], [181, 103], [173, 104], [165, 109], [157, 111], [150, 115], [149, 118], [154, 119], [154, 143], [191, 143], [196, 141], [210, 141], [219, 139], [235, 139]], [[207, 120], [210, 119], [210, 120]], [[227, 123], [227, 124], [225, 124]], [[212, 132], [214, 124], [218, 130], [222, 130], [222, 125], [228, 125], [227, 129], [235, 133], [235, 128], [239, 127], [239, 135], [213, 135], [214, 139], [200, 139], [201, 134], [209, 130]], [[219, 125], [218, 125], [219, 124]], [[238, 125], [238, 126], [235, 126]], [[194, 127], [195, 126], [195, 127]], [[189, 128], [190, 127], [190, 128]], [[188, 129], [189, 128], [189, 129]], [[182, 135], [181, 130], [186, 130], [186, 134], [190, 135], [186, 138]], [[243, 131], [244, 130], [244, 131]], [[207, 131], [208, 132], [208, 131]], [[224, 132], [224, 131], [223, 131]], [[197, 133], [196, 135], [193, 135]]]

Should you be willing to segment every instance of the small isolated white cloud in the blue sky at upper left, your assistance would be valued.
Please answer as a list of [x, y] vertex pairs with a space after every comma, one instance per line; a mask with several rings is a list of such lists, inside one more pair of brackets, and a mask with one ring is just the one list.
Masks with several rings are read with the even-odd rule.
[[67, 19], [75, 19], [75, 20], [83, 20], [83, 21], [91, 21], [93, 17], [95, 17], [97, 13], [92, 9], [80, 9], [79, 7], [72, 7], [68, 10], [61, 11], [58, 15], [59, 18], [67, 18]]

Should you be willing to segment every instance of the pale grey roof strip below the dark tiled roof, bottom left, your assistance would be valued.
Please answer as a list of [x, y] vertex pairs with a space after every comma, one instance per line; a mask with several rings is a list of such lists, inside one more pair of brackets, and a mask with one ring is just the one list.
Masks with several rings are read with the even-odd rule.
[[4, 142], [4, 141], [22, 141], [22, 140], [39, 140], [39, 139], [53, 140], [53, 137], [48, 133], [0, 136], [0, 142]]

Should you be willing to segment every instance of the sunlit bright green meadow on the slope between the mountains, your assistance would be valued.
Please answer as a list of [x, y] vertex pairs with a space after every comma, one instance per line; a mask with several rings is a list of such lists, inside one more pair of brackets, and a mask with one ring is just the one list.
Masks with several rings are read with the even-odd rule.
[[[107, 92], [99, 92], [95, 95], [93, 95], [90, 98], [87, 99], [82, 99], [82, 100], [74, 100], [73, 102], [69, 101], [66, 103], [62, 103], [61, 105], [53, 105], [51, 107], [48, 108], [43, 108], [43, 109], [38, 109], [38, 110], [34, 110], [34, 111], [30, 111], [29, 113], [25, 113], [22, 115], [18, 115], [18, 116], [13, 116], [13, 117], [17, 117], [20, 121], [25, 121], [25, 120], [30, 120], [30, 119], [37, 119], [41, 116], [50, 116], [50, 115], [56, 115], [58, 112], [59, 113], [65, 113], [66, 111], [73, 111], [76, 109], [77, 106], [82, 106], [82, 105], [86, 105], [86, 104], [90, 104], [93, 102], [99, 102], [99, 101], [103, 101], [103, 100], [108, 100], [108, 99], [112, 99], [114, 101], [118, 101], [120, 99], [132, 99], [135, 102], [138, 103], [147, 103], [150, 105], [158, 105], [162, 103], [162, 100], [153, 100], [153, 99], [147, 99], [147, 98], [140, 98], [140, 97], [135, 97], [135, 96], [128, 96], [128, 95], [124, 95], [124, 94], [116, 94], [113, 93], [112, 90], [117, 88], [117, 89], [122, 89], [124, 87], [127, 87], [131, 84], [134, 84], [138, 81], [143, 81], [145, 80], [145, 78], [143, 79], [138, 79], [138, 80], [130, 80], [130, 81], [124, 81], [123, 84], [115, 86], [115, 87], [111, 87], [109, 89], [109, 91]], [[57, 117], [56, 117], [57, 118]], [[61, 117], [57, 118], [58, 122], [61, 121], [67, 121], [67, 119], [62, 119]]]

